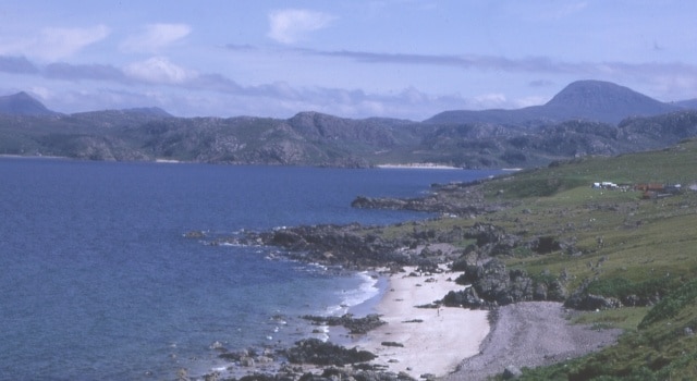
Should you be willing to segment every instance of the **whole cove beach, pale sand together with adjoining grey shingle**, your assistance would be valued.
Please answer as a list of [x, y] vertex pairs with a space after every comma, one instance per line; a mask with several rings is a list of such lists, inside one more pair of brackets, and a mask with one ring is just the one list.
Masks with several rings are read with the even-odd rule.
[[390, 371], [416, 379], [431, 374], [451, 381], [485, 380], [510, 366], [550, 365], [599, 351], [621, 334], [620, 330], [571, 324], [571, 312], [553, 302], [500, 307], [493, 324], [486, 310], [418, 308], [451, 290], [462, 290], [454, 282], [460, 273], [414, 276], [415, 268], [405, 270], [390, 275], [377, 307], [387, 324], [357, 343], [359, 349], [378, 355], [372, 362]]

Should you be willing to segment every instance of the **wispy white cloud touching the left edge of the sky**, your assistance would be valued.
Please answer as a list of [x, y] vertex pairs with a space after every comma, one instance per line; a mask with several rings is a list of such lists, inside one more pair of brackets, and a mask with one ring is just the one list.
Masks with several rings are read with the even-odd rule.
[[47, 27], [35, 36], [2, 38], [0, 53], [56, 61], [71, 57], [83, 48], [105, 39], [109, 33], [106, 25], [88, 28]]

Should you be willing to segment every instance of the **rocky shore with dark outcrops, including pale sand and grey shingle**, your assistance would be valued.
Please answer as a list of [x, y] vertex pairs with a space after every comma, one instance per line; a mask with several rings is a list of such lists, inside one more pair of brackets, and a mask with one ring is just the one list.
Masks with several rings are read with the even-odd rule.
[[[358, 197], [354, 207], [475, 218], [514, 206], [486, 202], [475, 185], [435, 186], [432, 195], [414, 200]], [[377, 315], [306, 317], [327, 325], [341, 324], [360, 335], [363, 341], [355, 342], [353, 347], [301, 341], [293, 348], [266, 353], [256, 359], [225, 355], [232, 361], [230, 368], [243, 371], [233, 372], [229, 379], [478, 380], [504, 371], [515, 376], [521, 367], [579, 356], [615, 342], [616, 331], [597, 332], [570, 325], [564, 318], [568, 314], [565, 308], [608, 308], [621, 305], [622, 300], [591, 295], [584, 285], [570, 291], [564, 272], [530, 275], [523, 270], [506, 269], [501, 260], [513, 253], [546, 255], [561, 250], [575, 255], [574, 242], [561, 242], [553, 235], [523, 238], [486, 222], [469, 223], [467, 228], [456, 223], [448, 226], [429, 229], [424, 222], [407, 222], [396, 226], [400, 229], [396, 235], [384, 234], [387, 226], [359, 224], [283, 228], [224, 237], [187, 233], [189, 238], [210, 245], [272, 246], [281, 250], [279, 255], [296, 260], [346, 270], [381, 269], [392, 284]], [[461, 242], [472, 244], [456, 245]], [[409, 273], [411, 282], [404, 281]], [[431, 283], [447, 286], [432, 288]], [[401, 291], [402, 296], [390, 300], [391, 292], [399, 288], [393, 284], [408, 286]], [[418, 291], [425, 290], [425, 285], [431, 292], [423, 299]], [[400, 303], [395, 304], [395, 299]], [[414, 309], [417, 307], [419, 310]], [[487, 336], [489, 321], [491, 333]], [[419, 358], [430, 360], [419, 362]], [[276, 365], [256, 367], [259, 362]], [[426, 366], [427, 362], [430, 365]], [[219, 373], [207, 377], [222, 378]]]

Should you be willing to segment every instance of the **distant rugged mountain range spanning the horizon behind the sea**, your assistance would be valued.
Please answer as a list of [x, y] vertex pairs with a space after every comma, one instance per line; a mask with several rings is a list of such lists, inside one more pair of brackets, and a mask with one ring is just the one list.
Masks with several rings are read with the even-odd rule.
[[26, 93], [0, 97], [0, 155], [363, 168], [439, 163], [539, 167], [587, 155], [656, 149], [697, 135], [697, 100], [663, 103], [608, 82], [580, 81], [542, 106], [445, 111], [424, 122], [175, 118], [159, 108], [62, 114]]

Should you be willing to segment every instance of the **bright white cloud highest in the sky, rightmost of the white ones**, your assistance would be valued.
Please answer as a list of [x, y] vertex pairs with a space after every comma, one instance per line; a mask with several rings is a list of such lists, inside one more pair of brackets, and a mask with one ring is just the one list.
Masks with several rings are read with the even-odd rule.
[[282, 10], [269, 14], [268, 36], [282, 44], [293, 44], [310, 32], [327, 27], [334, 17], [307, 10]]

